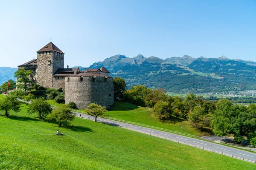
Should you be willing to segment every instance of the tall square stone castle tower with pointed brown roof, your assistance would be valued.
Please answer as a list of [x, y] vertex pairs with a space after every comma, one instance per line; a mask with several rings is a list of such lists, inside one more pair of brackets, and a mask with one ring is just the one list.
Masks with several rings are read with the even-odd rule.
[[49, 42], [37, 51], [37, 84], [53, 88], [52, 75], [58, 68], [64, 68], [64, 53], [52, 42]]

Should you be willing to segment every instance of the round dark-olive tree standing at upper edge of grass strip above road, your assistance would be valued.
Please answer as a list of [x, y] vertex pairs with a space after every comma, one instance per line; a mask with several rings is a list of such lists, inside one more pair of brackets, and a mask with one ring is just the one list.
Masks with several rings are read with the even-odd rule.
[[160, 120], [167, 120], [171, 116], [169, 102], [159, 101], [154, 105], [155, 116]]

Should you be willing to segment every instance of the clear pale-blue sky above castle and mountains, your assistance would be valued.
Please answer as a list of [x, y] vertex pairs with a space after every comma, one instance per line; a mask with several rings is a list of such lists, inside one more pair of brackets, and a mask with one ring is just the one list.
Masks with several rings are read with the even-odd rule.
[[0, 67], [50, 38], [70, 66], [115, 54], [256, 61], [256, 0], [0, 0]]

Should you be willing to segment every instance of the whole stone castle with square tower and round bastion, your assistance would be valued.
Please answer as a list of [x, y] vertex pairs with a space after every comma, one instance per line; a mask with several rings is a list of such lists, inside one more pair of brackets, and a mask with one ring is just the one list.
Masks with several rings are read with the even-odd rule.
[[113, 78], [106, 68], [64, 68], [64, 53], [52, 42], [36, 52], [37, 59], [18, 66], [32, 72], [32, 83], [65, 90], [65, 103], [75, 102], [79, 109], [93, 102], [106, 108], [113, 105]]

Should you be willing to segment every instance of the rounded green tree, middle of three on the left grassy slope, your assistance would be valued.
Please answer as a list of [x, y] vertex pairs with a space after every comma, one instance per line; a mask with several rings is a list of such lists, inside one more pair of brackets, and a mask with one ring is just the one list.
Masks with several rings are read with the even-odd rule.
[[52, 107], [43, 98], [35, 99], [29, 105], [28, 112], [30, 114], [37, 113], [38, 118], [42, 119], [42, 116], [47, 116], [47, 114], [52, 113]]

